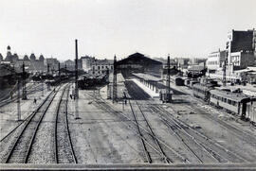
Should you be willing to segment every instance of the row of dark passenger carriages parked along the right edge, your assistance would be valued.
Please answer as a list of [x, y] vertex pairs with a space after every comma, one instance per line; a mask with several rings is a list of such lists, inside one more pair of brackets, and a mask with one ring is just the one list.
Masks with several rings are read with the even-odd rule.
[[256, 97], [243, 94], [239, 90], [231, 92], [211, 83], [191, 81], [187, 86], [192, 88], [195, 97], [256, 124]]

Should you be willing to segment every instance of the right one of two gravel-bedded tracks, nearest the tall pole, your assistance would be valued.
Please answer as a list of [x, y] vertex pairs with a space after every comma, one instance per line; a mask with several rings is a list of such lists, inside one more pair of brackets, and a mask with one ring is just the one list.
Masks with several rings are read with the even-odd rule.
[[63, 94], [58, 102], [55, 118], [55, 161], [56, 163], [78, 163], [71, 142], [67, 120], [67, 103], [69, 86], [64, 87]]

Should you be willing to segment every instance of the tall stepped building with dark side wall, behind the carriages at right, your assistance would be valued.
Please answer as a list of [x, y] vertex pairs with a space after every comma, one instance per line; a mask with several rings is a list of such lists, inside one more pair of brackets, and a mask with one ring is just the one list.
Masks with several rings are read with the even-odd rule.
[[[210, 53], [207, 60], [208, 74], [212, 78], [224, 78], [235, 81], [244, 79], [247, 67], [255, 66], [255, 40], [256, 31], [231, 30], [228, 33], [226, 50]], [[226, 65], [224, 65], [224, 61]]]

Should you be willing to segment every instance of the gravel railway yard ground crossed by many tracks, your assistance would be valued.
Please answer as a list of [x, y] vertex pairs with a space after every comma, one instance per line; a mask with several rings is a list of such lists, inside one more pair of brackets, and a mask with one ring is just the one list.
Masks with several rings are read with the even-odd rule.
[[171, 83], [172, 103], [162, 103], [131, 78], [124, 86], [129, 98], [113, 103], [106, 86], [80, 90], [74, 100], [73, 83], [44, 96], [32, 85], [28, 90], [37, 91], [22, 101], [21, 121], [16, 104], [3, 102], [1, 163], [256, 162], [255, 126], [195, 98], [192, 89]]

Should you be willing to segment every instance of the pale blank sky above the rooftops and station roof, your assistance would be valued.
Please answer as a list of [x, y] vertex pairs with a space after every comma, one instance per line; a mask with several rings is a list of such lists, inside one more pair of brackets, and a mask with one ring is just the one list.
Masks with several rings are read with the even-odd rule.
[[207, 57], [231, 29], [256, 28], [256, 0], [0, 0], [0, 53], [59, 60]]

